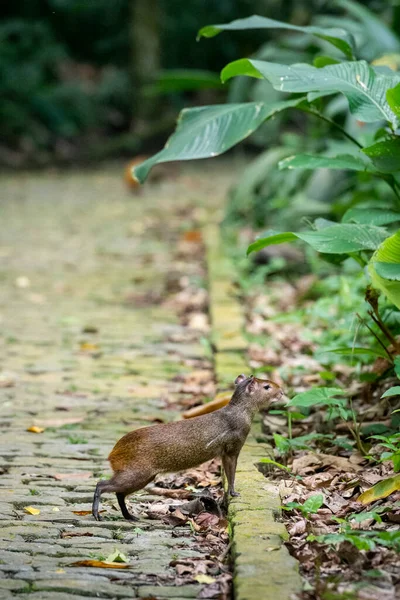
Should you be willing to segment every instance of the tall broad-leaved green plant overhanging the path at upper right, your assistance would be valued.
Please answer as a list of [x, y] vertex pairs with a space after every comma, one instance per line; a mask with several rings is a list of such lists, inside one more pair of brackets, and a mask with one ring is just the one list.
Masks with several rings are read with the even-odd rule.
[[[355, 10], [355, 5], [351, 6], [350, 10]], [[371, 22], [368, 10], [355, 12], [361, 20]], [[296, 96], [273, 103], [248, 102], [186, 110], [167, 146], [136, 167], [134, 175], [139, 181], [144, 181], [152, 166], [159, 162], [221, 154], [276, 114], [289, 109], [300, 110], [328, 122], [346, 140], [342, 142], [341, 152], [331, 150], [315, 155], [295, 154], [281, 159], [279, 167], [291, 170], [349, 170], [377, 178], [392, 190], [389, 214], [384, 211], [381, 213], [381, 207], [374, 207], [378, 212], [366, 217], [368, 211], [362, 205], [358, 212], [354, 207], [349, 207], [353, 211], [345, 212], [342, 223], [317, 219], [313, 229], [308, 231], [267, 231], [249, 246], [248, 252], [300, 239], [322, 255], [349, 256], [361, 266], [369, 264], [373, 284], [399, 307], [400, 273], [396, 267], [399, 261], [398, 234], [390, 236], [388, 226], [400, 218], [400, 212], [397, 212], [400, 207], [400, 184], [396, 179], [400, 164], [400, 139], [396, 135], [400, 117], [400, 74], [390, 68], [371, 65], [366, 60], [356, 60], [358, 49], [355, 38], [351, 31], [343, 28], [299, 27], [253, 16], [225, 25], [204, 27], [199, 36], [213, 37], [224, 30], [273, 28], [286, 28], [316, 36], [331, 44], [336, 51], [339, 50], [341, 56], [319, 60], [316, 65], [287, 65], [253, 58], [229, 63], [222, 71], [222, 81], [237, 76], [264, 79], [280, 94]], [[393, 35], [392, 40], [395, 39]], [[353, 117], [372, 124], [373, 129], [368, 136], [364, 136], [365, 139], [354, 137], [340, 120], [334, 120], [328, 114], [326, 98], [337, 94], [346, 98]], [[382, 129], [382, 122], [386, 123], [386, 130]]]

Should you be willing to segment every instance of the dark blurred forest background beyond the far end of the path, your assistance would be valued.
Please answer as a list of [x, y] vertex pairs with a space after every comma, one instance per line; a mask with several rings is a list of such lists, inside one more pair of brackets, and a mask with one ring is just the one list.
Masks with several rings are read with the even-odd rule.
[[[380, 0], [364, 4], [377, 13]], [[200, 27], [253, 13], [297, 24], [322, 0], [14, 0], [0, 16], [0, 165], [151, 152], [184, 106], [224, 102], [219, 71], [272, 35]], [[334, 11], [333, 11], [334, 12]]]

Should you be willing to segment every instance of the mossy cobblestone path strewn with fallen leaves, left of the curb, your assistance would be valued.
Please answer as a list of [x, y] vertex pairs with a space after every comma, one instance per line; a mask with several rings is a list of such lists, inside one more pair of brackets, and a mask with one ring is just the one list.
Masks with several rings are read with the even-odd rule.
[[[187, 527], [132, 525], [110, 495], [107, 520], [77, 513], [90, 510], [118, 437], [175, 418], [174, 398], [191, 391], [179, 376], [212, 370], [206, 324], [196, 332], [168, 303], [177, 278], [204, 285], [202, 258], [182, 238], [221, 204], [230, 176], [210, 169], [206, 181], [204, 167], [185, 170], [140, 196], [124, 190], [119, 169], [1, 179], [0, 598], [201, 589], [173, 587], [171, 560], [201, 554]], [[131, 568], [69, 566], [116, 548]]]

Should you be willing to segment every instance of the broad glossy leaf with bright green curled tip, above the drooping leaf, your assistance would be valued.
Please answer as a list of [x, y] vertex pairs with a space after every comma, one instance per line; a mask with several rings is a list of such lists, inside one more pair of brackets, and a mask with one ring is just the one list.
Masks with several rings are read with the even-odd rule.
[[342, 93], [350, 111], [360, 121], [385, 119], [398, 126], [398, 120], [386, 99], [387, 90], [400, 82], [400, 74], [374, 70], [366, 61], [342, 62], [318, 69], [307, 64], [283, 65], [243, 58], [229, 63], [221, 73], [222, 81], [237, 75], [264, 77], [281, 92], [315, 92], [318, 96]]

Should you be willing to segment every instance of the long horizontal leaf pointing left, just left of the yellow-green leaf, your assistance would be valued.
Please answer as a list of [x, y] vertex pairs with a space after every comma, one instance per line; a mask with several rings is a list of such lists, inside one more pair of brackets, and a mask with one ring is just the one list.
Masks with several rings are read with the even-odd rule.
[[292, 242], [296, 238], [307, 242], [318, 252], [346, 254], [361, 250], [376, 250], [386, 236], [386, 231], [379, 227], [350, 223], [325, 227], [319, 231], [278, 233], [270, 230], [267, 235], [250, 244], [247, 254], [258, 252], [266, 246]]

